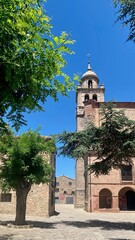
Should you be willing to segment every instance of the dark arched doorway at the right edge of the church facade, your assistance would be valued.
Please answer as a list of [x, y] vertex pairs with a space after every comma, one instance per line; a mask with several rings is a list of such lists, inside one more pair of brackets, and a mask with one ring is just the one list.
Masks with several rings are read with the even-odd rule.
[[122, 188], [119, 192], [120, 210], [135, 211], [135, 191], [130, 187]]

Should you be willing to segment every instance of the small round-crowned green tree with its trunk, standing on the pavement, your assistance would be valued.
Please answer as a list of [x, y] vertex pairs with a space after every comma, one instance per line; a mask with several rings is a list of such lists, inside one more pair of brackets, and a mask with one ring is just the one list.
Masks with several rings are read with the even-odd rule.
[[55, 152], [52, 139], [28, 131], [19, 137], [9, 132], [1, 136], [0, 182], [3, 191], [16, 191], [15, 224], [24, 225], [27, 195], [32, 184], [48, 183], [54, 169], [49, 163]]

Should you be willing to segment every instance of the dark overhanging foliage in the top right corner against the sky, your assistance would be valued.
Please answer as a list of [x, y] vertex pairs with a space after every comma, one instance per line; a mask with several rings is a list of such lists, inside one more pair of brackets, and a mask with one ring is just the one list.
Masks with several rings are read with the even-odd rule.
[[129, 36], [127, 40], [135, 42], [135, 1], [134, 0], [113, 0], [117, 10], [117, 21], [121, 21], [123, 26], [129, 26]]

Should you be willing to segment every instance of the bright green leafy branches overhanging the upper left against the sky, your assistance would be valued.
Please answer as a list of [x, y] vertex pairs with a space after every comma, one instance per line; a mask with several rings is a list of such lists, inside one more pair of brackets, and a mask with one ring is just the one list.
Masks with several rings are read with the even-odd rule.
[[73, 80], [63, 72], [65, 54], [73, 52], [66, 32], [52, 34], [46, 0], [0, 2], [0, 127], [5, 117], [16, 129], [23, 112], [43, 110], [48, 96], [67, 95]]

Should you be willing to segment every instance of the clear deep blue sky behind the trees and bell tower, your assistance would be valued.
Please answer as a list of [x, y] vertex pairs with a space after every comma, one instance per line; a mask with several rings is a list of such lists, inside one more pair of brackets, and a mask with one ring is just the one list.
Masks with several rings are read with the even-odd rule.
[[[51, 17], [53, 33], [66, 31], [76, 43], [74, 55], [65, 56], [65, 72], [83, 74], [87, 70], [87, 54], [90, 53], [92, 69], [105, 85], [105, 101], [135, 101], [135, 45], [126, 42], [128, 28], [122, 28], [116, 20], [112, 0], [48, 0], [45, 9]], [[26, 116], [27, 129], [42, 126], [41, 133], [52, 135], [64, 130], [75, 131], [75, 93], [59, 97], [59, 102], [47, 100], [45, 112]], [[75, 160], [57, 157], [56, 176], [75, 177]]]

